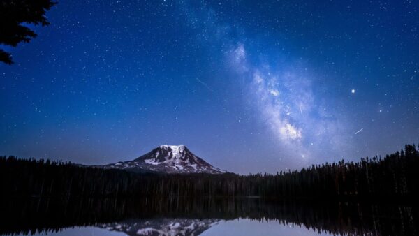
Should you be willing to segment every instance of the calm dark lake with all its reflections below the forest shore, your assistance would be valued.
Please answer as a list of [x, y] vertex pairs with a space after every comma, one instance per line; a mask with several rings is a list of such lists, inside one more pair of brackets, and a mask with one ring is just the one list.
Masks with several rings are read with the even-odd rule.
[[1, 235], [417, 235], [417, 208], [258, 198], [1, 200]]

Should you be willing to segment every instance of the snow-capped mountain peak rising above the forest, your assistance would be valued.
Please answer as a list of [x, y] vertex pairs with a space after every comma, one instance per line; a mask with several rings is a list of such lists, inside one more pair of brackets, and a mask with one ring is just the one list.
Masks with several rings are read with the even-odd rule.
[[166, 172], [166, 173], [209, 173], [221, 174], [226, 171], [210, 165], [195, 156], [184, 145], [161, 145], [133, 161], [103, 165], [104, 168], [124, 169], [135, 172]]

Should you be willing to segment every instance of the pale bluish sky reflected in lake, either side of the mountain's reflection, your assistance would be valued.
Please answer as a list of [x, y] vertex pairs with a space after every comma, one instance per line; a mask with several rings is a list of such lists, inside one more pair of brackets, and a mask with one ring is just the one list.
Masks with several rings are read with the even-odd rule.
[[[40, 233], [36, 235], [45, 235]], [[75, 227], [66, 228], [57, 233], [47, 233], [47, 235], [125, 235], [124, 233], [105, 230], [96, 227]], [[256, 221], [251, 219], [235, 219], [231, 221], [223, 221], [210, 229], [205, 230], [201, 235], [330, 235], [328, 233], [317, 233], [314, 230], [291, 224], [284, 225], [278, 221]]]

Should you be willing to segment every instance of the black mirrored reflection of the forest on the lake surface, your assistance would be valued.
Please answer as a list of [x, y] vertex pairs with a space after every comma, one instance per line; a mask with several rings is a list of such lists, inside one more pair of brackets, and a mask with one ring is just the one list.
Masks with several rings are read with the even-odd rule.
[[416, 207], [342, 202], [269, 202], [259, 198], [1, 200], [1, 233], [57, 231], [129, 219], [278, 220], [339, 235], [416, 235]]

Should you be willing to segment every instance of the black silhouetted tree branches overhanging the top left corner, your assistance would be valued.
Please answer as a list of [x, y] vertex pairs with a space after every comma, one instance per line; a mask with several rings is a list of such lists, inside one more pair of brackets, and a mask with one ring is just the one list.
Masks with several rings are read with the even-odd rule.
[[[45, 12], [56, 3], [51, 0], [1, 0], [0, 1], [0, 44], [16, 47], [28, 43], [36, 34], [27, 24], [50, 24]], [[0, 61], [13, 64], [10, 53], [0, 49]]]

